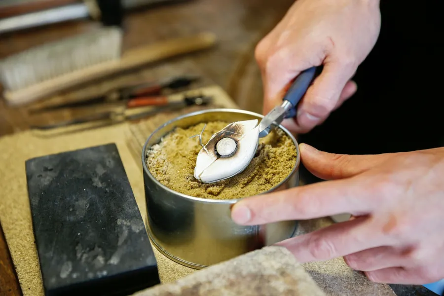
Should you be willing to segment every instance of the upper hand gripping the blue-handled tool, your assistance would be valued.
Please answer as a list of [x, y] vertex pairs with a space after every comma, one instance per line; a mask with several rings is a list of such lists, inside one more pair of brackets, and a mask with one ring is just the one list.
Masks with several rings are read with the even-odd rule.
[[282, 103], [300, 72], [323, 65], [299, 103], [296, 118], [284, 125], [304, 133], [322, 123], [356, 92], [356, 83], [349, 79], [370, 53], [379, 29], [379, 0], [297, 0], [256, 47], [264, 113]]

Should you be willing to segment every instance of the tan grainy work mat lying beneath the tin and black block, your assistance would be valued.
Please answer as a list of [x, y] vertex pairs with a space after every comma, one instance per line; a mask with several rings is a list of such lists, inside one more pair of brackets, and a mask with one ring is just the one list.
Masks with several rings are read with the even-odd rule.
[[[233, 101], [218, 86], [204, 87], [199, 91], [206, 95], [213, 95], [215, 98], [211, 106], [204, 108], [237, 109]], [[158, 114], [150, 117], [149, 120], [137, 123], [125, 122], [51, 137], [42, 137], [35, 132], [26, 131], [0, 139], [0, 184], [2, 185], [0, 222], [25, 296], [43, 295], [26, 187], [25, 160], [62, 151], [115, 143], [139, 209], [145, 217], [146, 204], [140, 163], [142, 145], [149, 134], [160, 124], [180, 113], [196, 111], [200, 108], [202, 107], [189, 107], [180, 112]], [[300, 222], [298, 234], [325, 227], [331, 223], [326, 219]], [[175, 281], [195, 271], [167, 259], [154, 247], [153, 250], [162, 283]], [[349, 269], [340, 258], [306, 264], [305, 268], [321, 288], [331, 296], [394, 295], [388, 286], [370, 283], [362, 274]]]

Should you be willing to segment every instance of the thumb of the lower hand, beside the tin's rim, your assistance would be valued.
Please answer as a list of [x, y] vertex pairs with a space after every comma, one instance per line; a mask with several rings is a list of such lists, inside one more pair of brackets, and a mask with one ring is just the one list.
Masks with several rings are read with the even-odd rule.
[[299, 145], [304, 167], [313, 175], [324, 180], [353, 177], [364, 173], [393, 156], [393, 153], [376, 155], [347, 155], [319, 151], [307, 145]]

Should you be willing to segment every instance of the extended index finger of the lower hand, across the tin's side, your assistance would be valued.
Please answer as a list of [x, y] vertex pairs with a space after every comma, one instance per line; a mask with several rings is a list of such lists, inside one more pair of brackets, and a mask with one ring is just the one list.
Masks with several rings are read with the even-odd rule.
[[234, 222], [260, 225], [286, 220], [307, 220], [351, 213], [369, 214], [372, 184], [361, 177], [324, 181], [245, 198], [231, 209]]

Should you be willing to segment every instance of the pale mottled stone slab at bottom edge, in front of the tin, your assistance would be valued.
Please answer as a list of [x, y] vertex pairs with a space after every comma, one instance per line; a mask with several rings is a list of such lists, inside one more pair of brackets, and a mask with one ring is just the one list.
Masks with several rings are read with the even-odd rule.
[[134, 296], [326, 296], [294, 256], [266, 247]]

